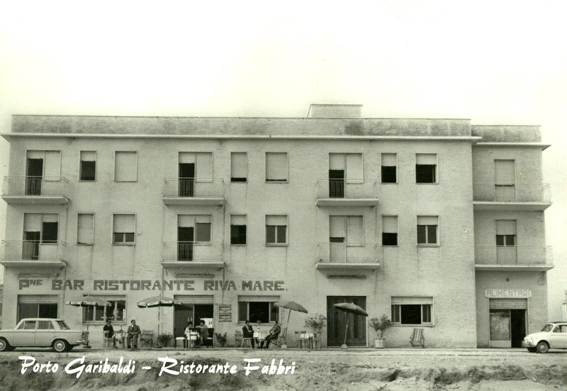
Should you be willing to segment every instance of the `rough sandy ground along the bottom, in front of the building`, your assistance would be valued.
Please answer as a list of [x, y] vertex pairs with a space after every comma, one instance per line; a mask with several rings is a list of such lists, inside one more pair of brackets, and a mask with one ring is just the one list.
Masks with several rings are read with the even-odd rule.
[[[33, 356], [37, 363], [59, 363], [57, 373], [21, 374], [19, 356]], [[108, 358], [118, 363], [135, 361], [134, 373], [65, 373], [64, 367], [85, 356], [84, 364], [98, 364]], [[237, 365], [237, 373], [163, 373], [158, 358], [175, 358], [196, 365]], [[245, 359], [260, 358], [260, 370], [245, 374]], [[288, 374], [260, 373], [275, 359], [294, 365]], [[77, 363], [75, 366], [79, 366]], [[142, 366], [150, 366], [144, 370]], [[172, 369], [174, 369], [172, 368]], [[209, 367], [210, 368], [210, 367]], [[188, 368], [189, 369], [189, 368]], [[77, 350], [54, 353], [18, 349], [0, 354], [0, 390], [567, 390], [567, 351], [546, 354], [497, 349], [235, 349], [181, 350]]]

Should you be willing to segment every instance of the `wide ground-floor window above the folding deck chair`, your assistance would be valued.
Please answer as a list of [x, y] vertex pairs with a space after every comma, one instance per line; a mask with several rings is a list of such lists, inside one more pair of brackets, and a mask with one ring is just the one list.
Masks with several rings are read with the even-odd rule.
[[433, 324], [433, 297], [392, 297], [393, 324]]

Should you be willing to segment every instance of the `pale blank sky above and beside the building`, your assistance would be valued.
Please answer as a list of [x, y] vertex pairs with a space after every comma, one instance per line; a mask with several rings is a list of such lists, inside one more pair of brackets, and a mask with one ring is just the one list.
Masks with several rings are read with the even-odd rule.
[[[2, 1], [0, 132], [12, 114], [304, 117], [309, 103], [541, 125], [549, 317], [561, 317], [566, 1], [194, 3]], [[1, 176], [7, 155], [1, 140]]]

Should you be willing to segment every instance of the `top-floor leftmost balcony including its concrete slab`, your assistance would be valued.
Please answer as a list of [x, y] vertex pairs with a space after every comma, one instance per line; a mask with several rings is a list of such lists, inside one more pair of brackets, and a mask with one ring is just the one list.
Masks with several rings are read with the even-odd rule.
[[5, 176], [2, 198], [9, 204], [69, 203], [69, 181], [62, 176]]

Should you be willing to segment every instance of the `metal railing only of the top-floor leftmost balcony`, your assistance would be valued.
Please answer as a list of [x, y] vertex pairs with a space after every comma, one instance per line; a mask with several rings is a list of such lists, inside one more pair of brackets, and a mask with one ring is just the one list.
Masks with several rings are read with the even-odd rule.
[[62, 176], [4, 176], [4, 196], [67, 196], [69, 181]]

